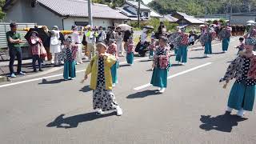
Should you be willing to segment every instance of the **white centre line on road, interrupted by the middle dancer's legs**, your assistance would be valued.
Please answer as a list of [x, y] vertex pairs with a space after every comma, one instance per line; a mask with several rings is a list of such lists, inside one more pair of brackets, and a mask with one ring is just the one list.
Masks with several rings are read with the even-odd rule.
[[[208, 65], [210, 65], [210, 64], [212, 64], [212, 62], [208, 62], [208, 63], [205, 63], [205, 64], [203, 64], [203, 65], [196, 66], [196, 67], [191, 68], [191, 69], [189, 69], [189, 70], [182, 71], [182, 72], [180, 72], [180, 73], [178, 73], [178, 74], [170, 75], [167, 79], [178, 77], [179, 75], [189, 73], [190, 71], [193, 71], [193, 70], [198, 70], [198, 69], [200, 69], [200, 68], [202, 68], [202, 67], [204, 67], [204, 66], [208, 66]], [[145, 89], [146, 87], [149, 87], [149, 86], [151, 86], [151, 84], [150, 84], [150, 83], [147, 83], [146, 85], [138, 86], [138, 87], [134, 88], [134, 90], [142, 90], [142, 89]]]

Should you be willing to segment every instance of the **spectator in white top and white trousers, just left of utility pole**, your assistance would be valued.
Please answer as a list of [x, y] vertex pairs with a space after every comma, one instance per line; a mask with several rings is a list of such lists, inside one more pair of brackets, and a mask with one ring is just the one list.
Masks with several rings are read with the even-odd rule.
[[76, 64], [79, 65], [80, 63], [82, 64], [82, 42], [80, 39], [80, 35], [78, 32], [78, 26], [72, 26], [72, 30], [73, 30], [73, 34], [72, 34], [72, 38], [73, 38], [73, 42], [76, 46], [78, 46], [78, 52], [77, 52], [77, 56], [76, 56]]

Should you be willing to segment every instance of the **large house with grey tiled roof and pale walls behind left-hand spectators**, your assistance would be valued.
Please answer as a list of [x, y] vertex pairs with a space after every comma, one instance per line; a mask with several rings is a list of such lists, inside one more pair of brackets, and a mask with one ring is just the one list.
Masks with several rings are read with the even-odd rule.
[[[89, 23], [88, 2], [85, 0], [7, 0], [3, 7], [5, 22], [33, 22], [38, 26], [58, 26], [70, 30], [74, 24], [86, 26]], [[129, 18], [117, 10], [102, 4], [92, 4], [94, 26], [104, 29], [126, 22]]]

